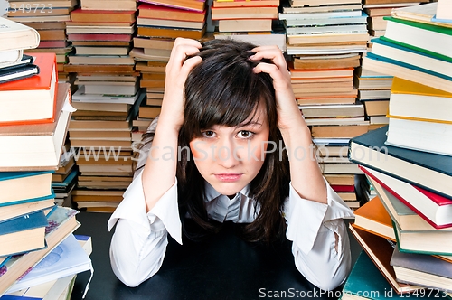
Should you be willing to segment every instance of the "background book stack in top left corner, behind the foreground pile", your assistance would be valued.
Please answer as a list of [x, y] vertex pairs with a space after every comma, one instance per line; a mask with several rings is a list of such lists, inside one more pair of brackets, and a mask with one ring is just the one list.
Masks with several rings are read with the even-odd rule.
[[37, 48], [28, 52], [56, 53], [58, 76], [61, 82], [73, 84], [74, 76], [64, 70], [68, 55], [72, 52], [68, 42], [65, 22], [70, 21], [70, 13], [80, 2], [78, 0], [56, 1], [9, 1], [7, 17], [18, 23], [33, 27], [41, 36]]

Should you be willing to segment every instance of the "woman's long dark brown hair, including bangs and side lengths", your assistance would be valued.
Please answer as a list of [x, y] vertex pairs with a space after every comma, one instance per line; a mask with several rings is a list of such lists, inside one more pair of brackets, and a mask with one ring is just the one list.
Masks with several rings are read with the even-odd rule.
[[[181, 147], [188, 147], [202, 129], [214, 125], [236, 127], [256, 114], [259, 103], [267, 113], [269, 140], [282, 142], [277, 127], [277, 104], [271, 77], [256, 74], [259, 61], [250, 61], [255, 45], [231, 40], [204, 42], [196, 55], [202, 57], [190, 72], [184, 86], [184, 125], [179, 132]], [[269, 61], [267, 61], [269, 62]], [[271, 63], [271, 62], [270, 62]], [[281, 142], [279, 142], [281, 141]], [[284, 145], [284, 143], [282, 144]], [[193, 156], [182, 151], [177, 164], [178, 194], [181, 218], [188, 212], [196, 224], [207, 232], [216, 232], [221, 224], [208, 219], [204, 206], [204, 184]], [[287, 154], [268, 153], [258, 175], [250, 183], [250, 197], [255, 201], [256, 219], [243, 226], [242, 236], [250, 241], [281, 238], [285, 221], [282, 206], [288, 195], [289, 169]], [[190, 230], [184, 232], [195, 238]]]

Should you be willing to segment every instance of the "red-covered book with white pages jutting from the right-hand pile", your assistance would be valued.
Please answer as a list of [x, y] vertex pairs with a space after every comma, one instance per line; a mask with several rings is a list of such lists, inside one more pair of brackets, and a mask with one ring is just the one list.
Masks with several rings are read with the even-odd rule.
[[451, 200], [362, 165], [360, 169], [434, 228], [452, 227]]

